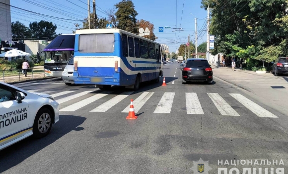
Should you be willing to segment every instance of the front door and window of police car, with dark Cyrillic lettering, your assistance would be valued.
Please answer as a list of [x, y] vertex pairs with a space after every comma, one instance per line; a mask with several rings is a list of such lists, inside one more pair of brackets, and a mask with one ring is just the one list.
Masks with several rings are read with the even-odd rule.
[[28, 103], [17, 103], [11, 88], [0, 84], [0, 146], [27, 133]]

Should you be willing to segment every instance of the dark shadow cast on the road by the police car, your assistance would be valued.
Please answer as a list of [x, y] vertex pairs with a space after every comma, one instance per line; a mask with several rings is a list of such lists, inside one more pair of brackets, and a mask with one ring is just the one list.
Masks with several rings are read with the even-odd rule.
[[[53, 124], [50, 134], [41, 139], [28, 137], [0, 151], [0, 173], [20, 164], [30, 156], [54, 143], [72, 130], [82, 130], [86, 118], [73, 115], [60, 115], [60, 120]], [[69, 123], [69, 124], [68, 124]]]

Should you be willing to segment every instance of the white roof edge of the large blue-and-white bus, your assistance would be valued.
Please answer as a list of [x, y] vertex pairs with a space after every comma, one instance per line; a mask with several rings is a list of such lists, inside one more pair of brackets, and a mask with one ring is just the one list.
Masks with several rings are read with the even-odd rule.
[[152, 42], [152, 43], [155, 43], [155, 44], [159, 44], [160, 43], [157, 43], [155, 41], [152, 41], [150, 39], [147, 39], [147, 38], [144, 38], [142, 36], [139, 36], [139, 35], [136, 35], [136, 34], [133, 34], [133, 33], [130, 33], [128, 31], [124, 31], [124, 30], [121, 30], [121, 29], [118, 29], [118, 28], [111, 28], [111, 29], [82, 29], [82, 30], [76, 30], [76, 34], [96, 34], [96, 33], [124, 33], [124, 34], [127, 34], [127, 35], [130, 35], [130, 36], [134, 36], [134, 37], [138, 37], [138, 38], [141, 38], [143, 40], [146, 40], [146, 41], [149, 41], [149, 42]]

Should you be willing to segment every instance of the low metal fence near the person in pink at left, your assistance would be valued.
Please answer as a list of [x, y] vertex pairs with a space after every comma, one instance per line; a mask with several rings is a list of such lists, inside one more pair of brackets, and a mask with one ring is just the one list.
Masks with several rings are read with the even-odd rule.
[[29, 68], [27, 69], [27, 77], [23, 74], [22, 69], [18, 70], [1, 70], [2, 77], [0, 82], [10, 83], [18, 81], [26, 81], [31, 79], [45, 78], [44, 68]]

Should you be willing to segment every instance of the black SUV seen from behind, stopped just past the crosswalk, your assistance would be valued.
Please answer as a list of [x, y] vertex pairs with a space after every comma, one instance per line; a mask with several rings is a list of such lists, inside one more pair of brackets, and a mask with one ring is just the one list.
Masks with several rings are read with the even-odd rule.
[[206, 59], [187, 59], [182, 71], [182, 84], [186, 82], [213, 82], [213, 71]]

